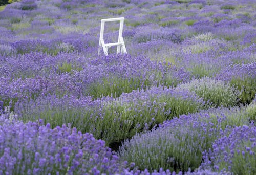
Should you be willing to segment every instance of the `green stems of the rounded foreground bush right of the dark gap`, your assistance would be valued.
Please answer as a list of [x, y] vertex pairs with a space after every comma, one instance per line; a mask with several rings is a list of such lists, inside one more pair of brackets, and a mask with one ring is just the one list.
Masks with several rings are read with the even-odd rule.
[[[191, 127], [187, 126], [186, 127]], [[172, 134], [172, 129], [177, 130]], [[169, 128], [153, 131], [150, 134], [136, 135], [130, 142], [123, 143], [120, 150], [122, 160], [134, 162], [139, 169], [169, 169], [172, 171], [187, 171], [188, 168], [196, 169], [201, 162], [201, 150], [197, 142], [198, 135], [204, 133], [193, 133], [193, 130], [183, 130], [180, 128]], [[186, 141], [184, 141], [186, 139]], [[178, 140], [181, 140], [178, 142]]]

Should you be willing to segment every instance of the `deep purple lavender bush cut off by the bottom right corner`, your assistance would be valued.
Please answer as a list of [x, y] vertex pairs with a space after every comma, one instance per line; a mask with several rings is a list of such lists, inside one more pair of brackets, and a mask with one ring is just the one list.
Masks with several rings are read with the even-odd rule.
[[[232, 129], [229, 135], [217, 139], [212, 151], [205, 155], [207, 163], [214, 171], [230, 171], [234, 174], [254, 174], [255, 169], [255, 126], [240, 126]], [[210, 158], [210, 161], [209, 161]]]

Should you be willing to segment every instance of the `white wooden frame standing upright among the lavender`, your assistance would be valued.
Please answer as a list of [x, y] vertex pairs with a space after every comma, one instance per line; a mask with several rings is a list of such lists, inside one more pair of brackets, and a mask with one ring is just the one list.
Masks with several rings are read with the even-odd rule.
[[[118, 20], [120, 20], [118, 41], [114, 42], [114, 43], [105, 43], [104, 40], [103, 40], [105, 22], [118, 21]], [[123, 41], [123, 37], [122, 37], [123, 21], [124, 21], [124, 17], [101, 19], [98, 55], [100, 55], [101, 49], [103, 50], [105, 55], [108, 55], [108, 49], [111, 46], [117, 46], [117, 50], [116, 50], [117, 54], [119, 54], [119, 53], [127, 54], [127, 51], [126, 51], [126, 48], [125, 48], [125, 45], [124, 45], [124, 41]]]

